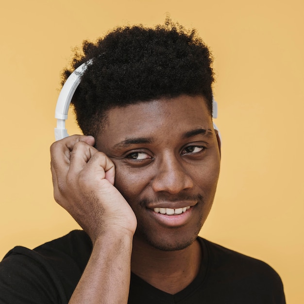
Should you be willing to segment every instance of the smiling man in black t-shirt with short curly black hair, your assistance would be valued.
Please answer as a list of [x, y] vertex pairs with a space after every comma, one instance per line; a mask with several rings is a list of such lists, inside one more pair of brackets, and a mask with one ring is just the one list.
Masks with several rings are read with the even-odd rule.
[[51, 170], [56, 202], [84, 231], [9, 252], [0, 303], [285, 303], [267, 264], [198, 237], [220, 138], [196, 32], [167, 19], [83, 51], [64, 81], [87, 63], [72, 100], [84, 135], [51, 146]]

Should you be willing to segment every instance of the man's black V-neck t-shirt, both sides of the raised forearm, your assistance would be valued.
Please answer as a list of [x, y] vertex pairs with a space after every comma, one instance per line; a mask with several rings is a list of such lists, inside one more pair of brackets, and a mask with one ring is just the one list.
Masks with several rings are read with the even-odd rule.
[[[171, 295], [131, 274], [129, 304], [285, 304], [282, 281], [267, 264], [201, 237], [198, 276]], [[17, 246], [0, 263], [0, 304], [66, 304], [90, 257], [84, 231], [34, 250]], [[182, 263], [183, 261], [181, 261]]]

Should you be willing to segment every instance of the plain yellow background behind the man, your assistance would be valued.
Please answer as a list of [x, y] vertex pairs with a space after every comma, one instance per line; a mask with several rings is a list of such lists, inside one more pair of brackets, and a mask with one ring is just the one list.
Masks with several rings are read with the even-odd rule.
[[78, 227], [54, 203], [49, 169], [71, 49], [117, 25], [162, 23], [167, 12], [197, 28], [215, 57], [222, 166], [201, 235], [268, 262], [287, 303], [304, 303], [301, 0], [1, 1], [0, 257]]

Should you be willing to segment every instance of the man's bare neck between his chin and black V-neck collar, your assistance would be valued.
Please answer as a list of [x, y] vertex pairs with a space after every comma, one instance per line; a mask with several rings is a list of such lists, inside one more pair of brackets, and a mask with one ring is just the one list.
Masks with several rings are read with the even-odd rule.
[[160, 290], [175, 294], [197, 276], [202, 260], [198, 240], [178, 251], [161, 251], [134, 238], [131, 270]]

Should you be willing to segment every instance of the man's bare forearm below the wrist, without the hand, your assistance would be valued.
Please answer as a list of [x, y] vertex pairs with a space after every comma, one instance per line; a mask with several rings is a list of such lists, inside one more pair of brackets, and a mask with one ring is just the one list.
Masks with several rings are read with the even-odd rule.
[[69, 304], [127, 303], [132, 241], [129, 234], [97, 239]]

